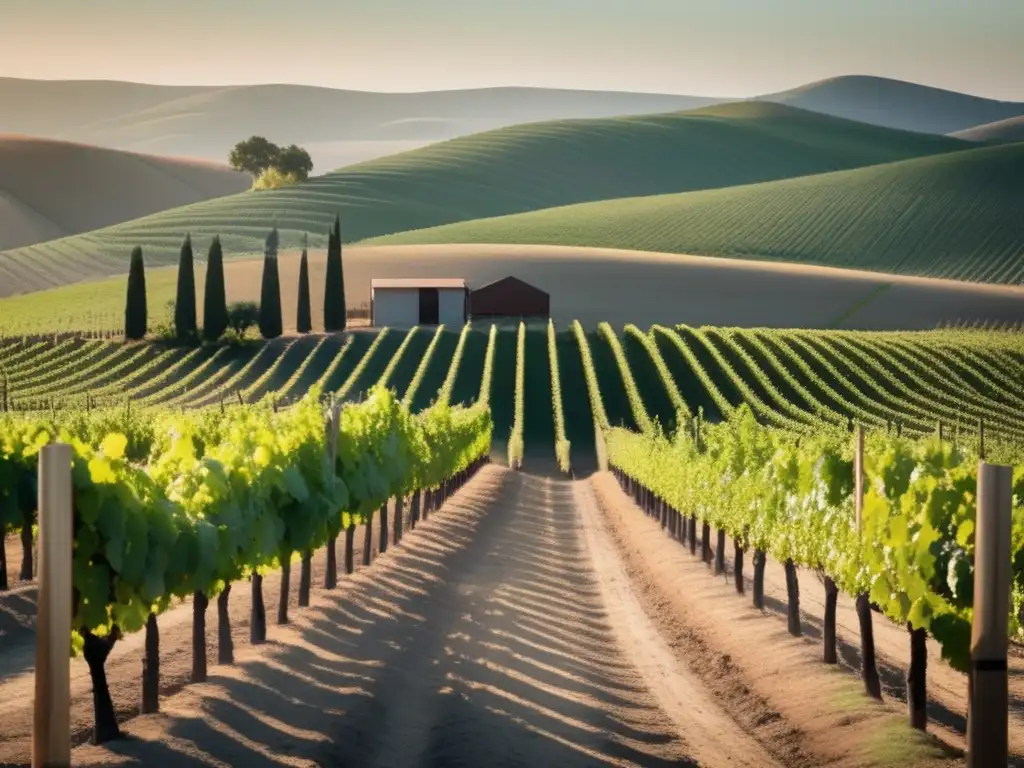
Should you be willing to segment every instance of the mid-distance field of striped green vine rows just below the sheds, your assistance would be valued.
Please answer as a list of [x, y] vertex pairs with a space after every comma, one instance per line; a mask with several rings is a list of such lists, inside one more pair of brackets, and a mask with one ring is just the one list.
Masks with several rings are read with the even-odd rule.
[[572, 459], [562, 445], [563, 465], [594, 455], [595, 419], [672, 430], [698, 413], [717, 421], [741, 402], [764, 422], [792, 429], [845, 429], [853, 420], [923, 434], [941, 422], [948, 435], [970, 441], [983, 420], [989, 440], [1024, 441], [1019, 334], [616, 331], [605, 324], [591, 334], [553, 329], [549, 338], [546, 326], [531, 326], [518, 408], [517, 335], [512, 327], [494, 328], [490, 336], [479, 327], [385, 329], [218, 349], [6, 340], [0, 381], [8, 408], [18, 410], [228, 407], [263, 397], [287, 403], [312, 386], [358, 399], [378, 383], [414, 411], [482, 394], [494, 408], [496, 442], [511, 436], [518, 416], [527, 454], [554, 455], [556, 440], [568, 442]]

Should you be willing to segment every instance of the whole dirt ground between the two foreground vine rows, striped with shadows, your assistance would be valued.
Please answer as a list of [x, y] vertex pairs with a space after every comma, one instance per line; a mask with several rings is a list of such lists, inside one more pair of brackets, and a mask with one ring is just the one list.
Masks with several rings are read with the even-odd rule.
[[[249, 645], [248, 585], [236, 585], [236, 664], [214, 664], [211, 607], [206, 683], [186, 685], [191, 607], [163, 614], [159, 715], [137, 716], [142, 634], [120, 642], [108, 671], [123, 740], [81, 743], [91, 695], [75, 660], [74, 763], [962, 764], [912, 731], [897, 701], [876, 702], [849, 670], [821, 664], [811, 584], [802, 593], [808, 632], [786, 633], [776, 567], [769, 608], [757, 611], [610, 475], [571, 482], [492, 465], [335, 591], [319, 589], [318, 553], [309, 608], [295, 603], [294, 567], [289, 626], [273, 624], [279, 579], [268, 575], [266, 645]], [[18, 594], [30, 590], [0, 598], [3, 621], [16, 624]], [[23, 610], [29, 626], [0, 641], [2, 765], [30, 757], [31, 612]], [[841, 610], [848, 642], [846, 618]]]

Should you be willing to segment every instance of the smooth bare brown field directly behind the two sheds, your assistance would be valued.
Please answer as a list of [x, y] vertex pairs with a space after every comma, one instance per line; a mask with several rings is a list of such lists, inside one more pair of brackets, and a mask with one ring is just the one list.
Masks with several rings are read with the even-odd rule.
[[[310, 285], [325, 255], [309, 254]], [[295, 317], [298, 254], [283, 254], [284, 316]], [[259, 299], [262, 259], [225, 264], [228, 299]], [[515, 275], [551, 296], [560, 326], [674, 326], [925, 330], [973, 317], [1024, 322], [1024, 288], [800, 264], [643, 251], [529, 245], [346, 246], [350, 306], [375, 278], [464, 278], [470, 288]], [[586, 275], [586, 280], [580, 280]], [[120, 284], [119, 284], [120, 285]], [[313, 307], [313, 327], [323, 324]]]

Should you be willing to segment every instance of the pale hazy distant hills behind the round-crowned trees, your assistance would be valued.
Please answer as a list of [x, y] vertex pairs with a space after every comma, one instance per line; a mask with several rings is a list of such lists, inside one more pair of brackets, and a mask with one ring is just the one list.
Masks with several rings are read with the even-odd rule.
[[240, 139], [261, 134], [302, 144], [323, 173], [516, 123], [691, 110], [721, 100], [546, 88], [375, 93], [0, 78], [0, 132], [217, 162]]

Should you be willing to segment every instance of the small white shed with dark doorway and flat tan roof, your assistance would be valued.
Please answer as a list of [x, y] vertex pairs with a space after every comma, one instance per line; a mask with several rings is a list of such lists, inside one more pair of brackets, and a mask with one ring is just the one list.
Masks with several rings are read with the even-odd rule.
[[390, 278], [370, 282], [370, 318], [375, 328], [461, 326], [469, 289], [461, 278]]

